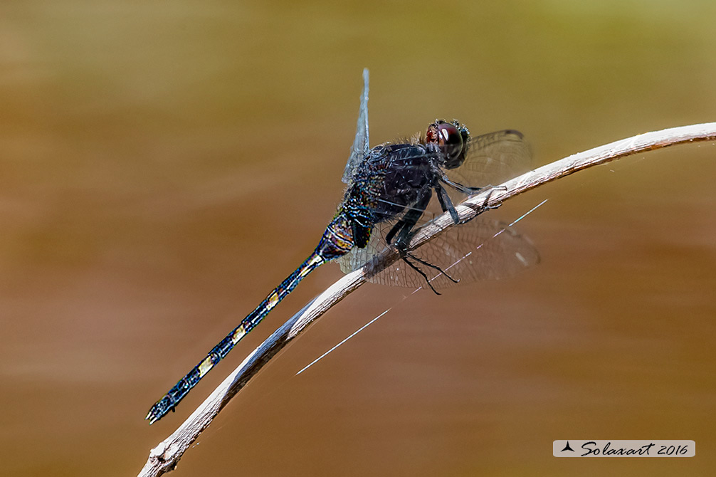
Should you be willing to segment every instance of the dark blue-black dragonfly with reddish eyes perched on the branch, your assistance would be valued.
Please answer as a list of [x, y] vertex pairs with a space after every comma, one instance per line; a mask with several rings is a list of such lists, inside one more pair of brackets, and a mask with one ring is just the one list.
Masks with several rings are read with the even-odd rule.
[[[458, 281], [500, 279], [538, 262], [538, 252], [528, 238], [504, 223], [481, 217], [460, 223], [454, 206], [457, 198], [529, 170], [531, 151], [523, 135], [502, 130], [473, 136], [457, 120], [435, 120], [425, 135], [370, 148], [367, 69], [363, 80], [357, 132], [342, 177], [346, 190], [318, 246], [152, 406], [146, 417], [150, 424], [175, 410], [202, 377], [302, 279], [326, 262], [339, 261], [344, 272], [365, 267], [369, 281], [377, 283], [427, 284], [437, 294], [437, 289]], [[439, 207], [437, 213], [449, 213], [456, 227], [410, 250], [411, 238], [430, 221], [429, 206]], [[373, 273], [371, 264], [387, 248], [397, 249], [400, 260]]]

